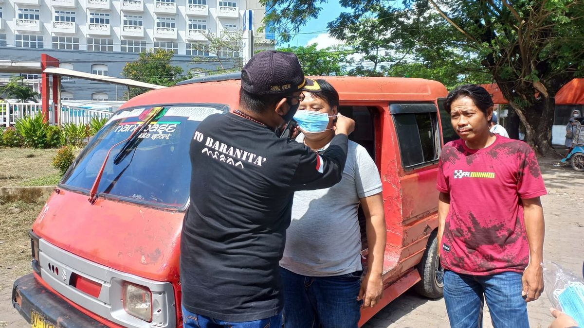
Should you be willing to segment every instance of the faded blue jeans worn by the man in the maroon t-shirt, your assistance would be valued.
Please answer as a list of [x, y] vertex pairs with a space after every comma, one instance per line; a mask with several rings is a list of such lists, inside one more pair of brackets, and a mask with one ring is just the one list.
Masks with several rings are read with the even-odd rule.
[[521, 295], [522, 274], [466, 275], [444, 272], [444, 301], [452, 328], [482, 327], [482, 307], [495, 328], [529, 328], [527, 303]]

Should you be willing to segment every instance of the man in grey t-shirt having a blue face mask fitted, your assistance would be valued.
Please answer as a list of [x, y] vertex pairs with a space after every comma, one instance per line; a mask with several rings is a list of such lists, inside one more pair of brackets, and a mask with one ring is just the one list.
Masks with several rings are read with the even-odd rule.
[[[302, 134], [296, 141], [322, 153], [335, 137], [339, 94], [325, 80], [318, 79], [317, 83], [321, 91], [303, 93], [304, 101], [295, 116]], [[324, 131], [303, 129], [303, 114], [320, 115]], [[369, 245], [363, 281], [359, 205]], [[280, 260], [284, 326], [356, 328], [360, 306], [373, 307], [381, 298], [385, 233], [377, 166], [367, 149], [349, 141], [343, 178], [338, 184], [294, 193], [292, 221]]]

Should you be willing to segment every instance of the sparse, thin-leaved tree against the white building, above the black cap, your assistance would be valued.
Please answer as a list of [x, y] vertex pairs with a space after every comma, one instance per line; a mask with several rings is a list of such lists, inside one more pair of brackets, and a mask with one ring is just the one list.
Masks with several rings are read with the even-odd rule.
[[[192, 70], [203, 72], [206, 75], [241, 71], [243, 62], [240, 53], [243, 48], [243, 32], [224, 31], [217, 35], [204, 31], [201, 34], [207, 40], [194, 42], [191, 44], [191, 48], [203, 53], [204, 57], [193, 57], [192, 63], [195, 67]], [[211, 62], [215, 63], [213, 69], [208, 68]]]

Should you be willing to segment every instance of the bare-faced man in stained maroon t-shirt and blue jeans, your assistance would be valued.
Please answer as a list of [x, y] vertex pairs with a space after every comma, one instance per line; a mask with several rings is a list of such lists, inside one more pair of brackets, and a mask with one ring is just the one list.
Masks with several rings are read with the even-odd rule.
[[460, 136], [444, 145], [437, 178], [450, 325], [482, 327], [486, 299], [495, 328], [529, 328], [526, 302], [544, 287], [546, 191], [536, 156], [523, 141], [489, 132], [493, 102], [484, 88], [459, 86], [444, 107]]

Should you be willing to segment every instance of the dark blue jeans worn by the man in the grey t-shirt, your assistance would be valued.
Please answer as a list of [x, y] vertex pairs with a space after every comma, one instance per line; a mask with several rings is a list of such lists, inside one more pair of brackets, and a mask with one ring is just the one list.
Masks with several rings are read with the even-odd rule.
[[356, 328], [361, 271], [333, 277], [307, 277], [280, 267], [284, 327]]

